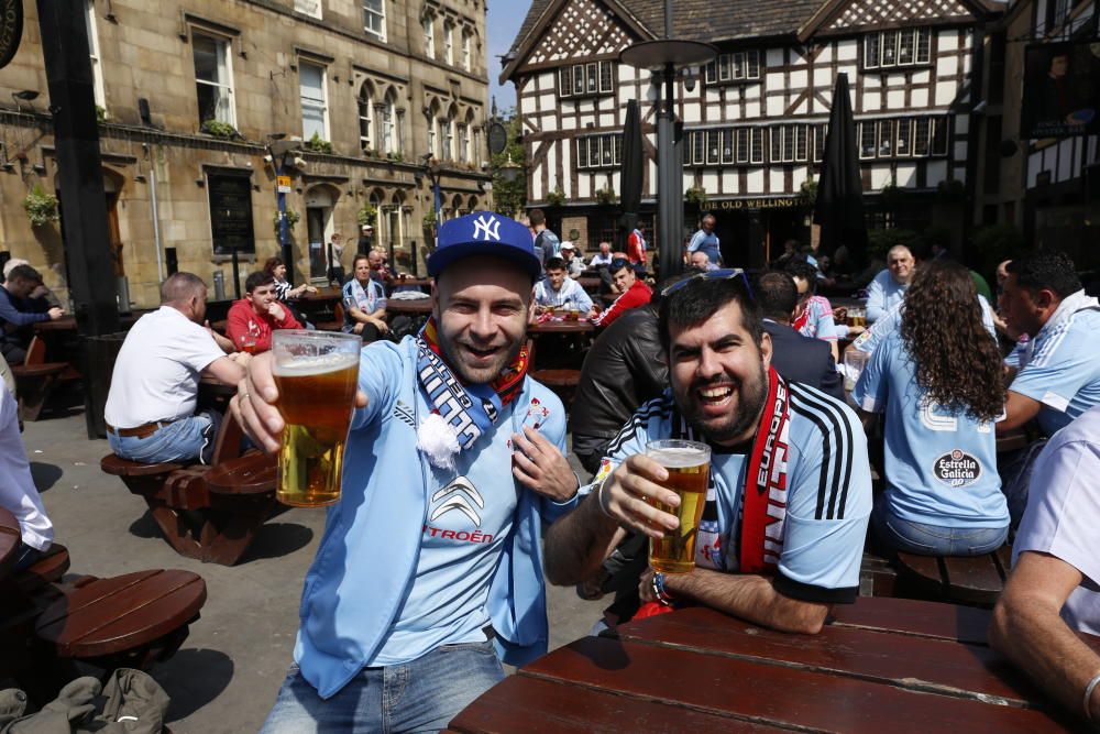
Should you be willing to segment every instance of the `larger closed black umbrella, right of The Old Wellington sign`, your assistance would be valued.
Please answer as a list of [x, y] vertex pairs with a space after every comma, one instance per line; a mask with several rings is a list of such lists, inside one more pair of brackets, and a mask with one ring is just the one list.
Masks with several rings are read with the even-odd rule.
[[856, 140], [847, 74], [837, 75], [833, 87], [825, 156], [817, 177], [814, 223], [821, 224], [824, 252], [835, 252], [844, 244], [855, 261], [865, 260], [867, 222], [864, 219], [864, 184], [859, 173], [859, 142]]

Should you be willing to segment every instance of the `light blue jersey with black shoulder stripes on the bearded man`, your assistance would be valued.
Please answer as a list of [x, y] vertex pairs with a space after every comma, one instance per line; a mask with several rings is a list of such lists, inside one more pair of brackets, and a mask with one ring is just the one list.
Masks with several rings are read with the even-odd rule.
[[[791, 395], [785, 514], [781, 543], [766, 549], [766, 559], [771, 550], [779, 554], [780, 591], [794, 589], [799, 599], [824, 603], [855, 601], [871, 512], [864, 430], [843, 403], [814, 387], [785, 384]], [[582, 492], [593, 491], [615, 467], [630, 456], [645, 453], [646, 443], [661, 438], [701, 440], [676, 410], [669, 392], [638, 408], [608, 446], [595, 481]], [[698, 567], [738, 570], [747, 463], [745, 453], [712, 447], [704, 513], [710, 519], [701, 523], [695, 544]]]

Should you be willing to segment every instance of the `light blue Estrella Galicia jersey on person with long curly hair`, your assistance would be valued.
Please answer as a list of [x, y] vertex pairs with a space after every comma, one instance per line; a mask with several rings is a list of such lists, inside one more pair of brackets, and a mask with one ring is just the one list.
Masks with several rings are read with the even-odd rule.
[[899, 331], [875, 350], [851, 397], [868, 413], [886, 414], [891, 513], [942, 527], [1008, 524], [993, 424], [950, 415], [930, 402], [916, 384], [916, 365]]

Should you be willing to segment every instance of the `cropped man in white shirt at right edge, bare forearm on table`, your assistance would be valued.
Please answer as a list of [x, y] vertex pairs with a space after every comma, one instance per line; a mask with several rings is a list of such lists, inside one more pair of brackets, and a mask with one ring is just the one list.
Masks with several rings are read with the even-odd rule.
[[[1066, 709], [1100, 722], [1100, 407], [1043, 449], [989, 643]], [[1086, 731], [1082, 726], [1079, 731]]]

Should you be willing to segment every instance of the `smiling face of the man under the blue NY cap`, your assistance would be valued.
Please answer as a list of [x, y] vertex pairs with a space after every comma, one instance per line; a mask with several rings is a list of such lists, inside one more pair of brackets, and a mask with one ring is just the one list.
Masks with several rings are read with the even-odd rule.
[[524, 343], [531, 318], [531, 280], [495, 258], [466, 258], [436, 278], [432, 314], [439, 346], [466, 383], [485, 384]]

